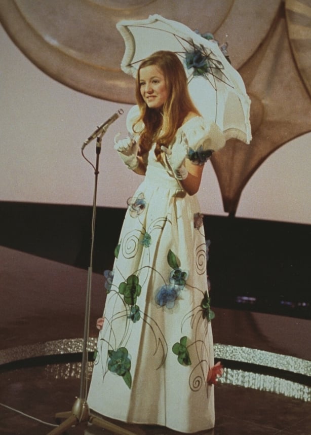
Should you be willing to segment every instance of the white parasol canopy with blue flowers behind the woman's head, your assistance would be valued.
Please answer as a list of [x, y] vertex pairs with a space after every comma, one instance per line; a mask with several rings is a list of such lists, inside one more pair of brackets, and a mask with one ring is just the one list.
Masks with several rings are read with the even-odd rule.
[[231, 66], [211, 34], [201, 35], [161, 15], [116, 24], [125, 41], [122, 70], [136, 77], [139, 64], [152, 53], [173, 51], [181, 60], [191, 98], [202, 116], [214, 121], [225, 139], [249, 143], [250, 99], [238, 71]]

